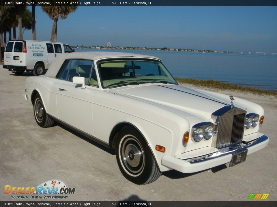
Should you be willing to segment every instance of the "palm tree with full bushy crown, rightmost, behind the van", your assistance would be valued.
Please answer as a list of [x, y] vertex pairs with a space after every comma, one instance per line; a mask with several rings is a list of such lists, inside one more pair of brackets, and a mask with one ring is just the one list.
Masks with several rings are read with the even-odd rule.
[[[75, 0], [78, 1], [78, 0]], [[57, 41], [57, 23], [59, 18], [65, 19], [67, 16], [76, 11], [77, 6], [41, 6], [42, 11], [44, 11], [50, 19], [54, 20], [51, 38], [50, 41], [56, 42]]]

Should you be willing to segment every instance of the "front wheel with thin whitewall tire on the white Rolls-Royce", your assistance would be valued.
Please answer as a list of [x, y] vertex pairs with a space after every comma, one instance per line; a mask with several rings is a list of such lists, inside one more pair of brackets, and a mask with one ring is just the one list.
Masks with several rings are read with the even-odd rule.
[[133, 183], [152, 183], [161, 175], [149, 146], [131, 127], [124, 127], [118, 135], [116, 159], [121, 173]]

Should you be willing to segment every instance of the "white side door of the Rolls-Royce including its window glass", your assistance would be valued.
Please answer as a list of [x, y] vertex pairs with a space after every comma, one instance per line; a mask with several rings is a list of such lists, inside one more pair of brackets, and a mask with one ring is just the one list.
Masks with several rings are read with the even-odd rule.
[[[65, 80], [57, 89], [59, 120], [92, 136], [94, 135], [93, 99], [99, 90], [97, 85], [89, 84], [92, 82], [93, 73], [95, 73], [95, 69], [92, 60], [75, 59], [67, 60], [57, 76], [57, 78]], [[74, 76], [85, 77], [85, 89], [82, 88], [82, 85], [72, 82]]]

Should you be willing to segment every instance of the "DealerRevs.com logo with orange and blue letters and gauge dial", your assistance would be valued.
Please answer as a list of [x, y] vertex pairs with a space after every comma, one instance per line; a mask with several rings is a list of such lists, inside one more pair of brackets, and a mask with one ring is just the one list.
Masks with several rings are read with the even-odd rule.
[[66, 199], [70, 194], [75, 193], [75, 188], [68, 186], [60, 180], [49, 180], [37, 185], [36, 187], [12, 187], [4, 186], [4, 193], [11, 194], [12, 199]]

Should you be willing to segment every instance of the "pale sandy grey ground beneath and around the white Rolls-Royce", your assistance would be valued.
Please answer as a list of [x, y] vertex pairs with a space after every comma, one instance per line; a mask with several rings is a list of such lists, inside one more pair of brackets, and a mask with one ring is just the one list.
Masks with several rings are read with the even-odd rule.
[[36, 124], [33, 107], [23, 96], [25, 77], [31, 75], [16, 76], [0, 66], [1, 201], [12, 200], [11, 194], [3, 193], [4, 185], [33, 187], [54, 179], [76, 189], [67, 199], [71, 201], [246, 201], [250, 193], [269, 193], [267, 200], [277, 200], [276, 97], [257, 101], [265, 109], [261, 132], [270, 142], [245, 163], [193, 174], [169, 171], [154, 183], [135, 185], [121, 175], [114, 151], [59, 124]]

